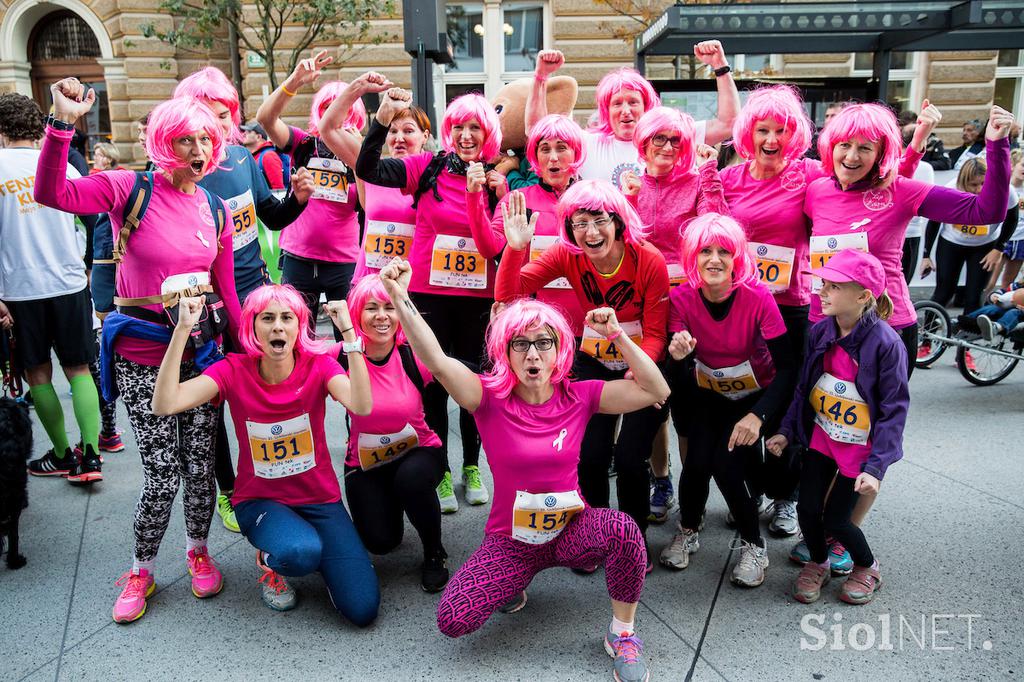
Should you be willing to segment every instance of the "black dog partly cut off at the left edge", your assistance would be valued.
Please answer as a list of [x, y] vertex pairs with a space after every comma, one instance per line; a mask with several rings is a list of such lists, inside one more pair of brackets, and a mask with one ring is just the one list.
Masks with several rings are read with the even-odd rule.
[[0, 553], [7, 540], [7, 567], [20, 568], [26, 558], [18, 552], [17, 522], [29, 506], [28, 463], [32, 455], [32, 421], [29, 407], [0, 397]]

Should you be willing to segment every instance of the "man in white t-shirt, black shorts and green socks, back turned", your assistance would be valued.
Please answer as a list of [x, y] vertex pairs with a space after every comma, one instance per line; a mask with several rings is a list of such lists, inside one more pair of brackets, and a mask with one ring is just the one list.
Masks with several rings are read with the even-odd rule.
[[[17, 370], [25, 372], [36, 414], [53, 443], [29, 463], [29, 473], [86, 484], [102, 480], [99, 398], [89, 374], [95, 356], [92, 301], [75, 216], [33, 197], [42, 136], [43, 114], [36, 102], [20, 94], [0, 95], [0, 327], [13, 331]], [[68, 177], [79, 173], [69, 166]], [[51, 383], [51, 349], [71, 382], [80, 453], [70, 446]]]

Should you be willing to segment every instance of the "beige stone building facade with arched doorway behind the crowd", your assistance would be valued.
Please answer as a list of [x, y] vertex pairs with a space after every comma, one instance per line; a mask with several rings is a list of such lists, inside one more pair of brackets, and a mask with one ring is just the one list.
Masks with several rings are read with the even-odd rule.
[[[77, 75], [101, 95], [101, 105], [86, 124], [90, 141], [113, 139], [126, 160], [141, 161], [141, 152], [134, 144], [135, 121], [170, 95], [177, 81], [198, 67], [213, 63], [228, 71], [226, 53], [185, 53], [144, 38], [141, 25], [155, 23], [166, 29], [173, 22], [157, 11], [157, 4], [156, 0], [0, 0], [0, 91], [23, 92], [48, 108], [48, 84], [63, 75]], [[435, 68], [435, 99], [443, 102], [468, 90], [492, 95], [508, 80], [531, 72], [531, 57], [538, 48], [557, 47], [566, 55], [565, 73], [580, 83], [577, 114], [585, 121], [593, 112], [594, 89], [600, 77], [633, 62], [629, 36], [642, 30], [643, 23], [609, 6], [626, 4], [616, 0], [449, 2], [450, 27], [462, 38], [456, 45], [455, 67]], [[656, 4], [654, 8], [658, 8]], [[402, 49], [401, 31], [400, 15], [375, 18], [374, 35], [384, 41], [346, 51], [340, 71], [332, 75], [340, 74], [347, 80], [373, 68], [399, 85], [409, 85], [410, 58]], [[286, 33], [286, 39], [289, 35]], [[246, 112], [252, 117], [268, 79], [261, 68], [249, 66], [248, 56], [243, 50], [243, 94]], [[1018, 114], [1024, 111], [1020, 51], [894, 56], [890, 100], [915, 108], [927, 96], [940, 105], [946, 115], [946, 127], [940, 133], [947, 142], [958, 142], [963, 121], [985, 118], [993, 99]], [[870, 70], [870, 55], [849, 53], [730, 54], [730, 59], [741, 78], [796, 82], [828, 77], [866, 80]], [[688, 68], [680, 69], [671, 60], [648, 65], [651, 79], [680, 74], [687, 76]], [[698, 73], [697, 77], [705, 76]], [[294, 98], [287, 112], [291, 122], [302, 124], [310, 100], [311, 92]]]

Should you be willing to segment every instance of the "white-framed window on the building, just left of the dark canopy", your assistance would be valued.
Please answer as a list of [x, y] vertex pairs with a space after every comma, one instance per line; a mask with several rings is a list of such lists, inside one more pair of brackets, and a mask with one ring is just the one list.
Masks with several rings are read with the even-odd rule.
[[550, 30], [548, 9], [547, 0], [449, 2], [455, 62], [444, 69], [444, 102], [438, 104], [467, 92], [493, 96], [508, 81], [534, 73]]

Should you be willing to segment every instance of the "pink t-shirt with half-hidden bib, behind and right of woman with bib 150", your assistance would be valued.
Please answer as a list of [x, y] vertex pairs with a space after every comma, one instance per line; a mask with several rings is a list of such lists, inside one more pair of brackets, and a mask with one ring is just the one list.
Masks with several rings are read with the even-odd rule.
[[[752, 246], [761, 264], [762, 282], [770, 287], [775, 301], [779, 305], [807, 305], [811, 302], [811, 278], [803, 272], [809, 267], [811, 223], [804, 215], [804, 195], [808, 185], [824, 174], [821, 163], [791, 161], [781, 173], [765, 180], [751, 175], [751, 165], [730, 166], [720, 173], [732, 217], [743, 226], [746, 239], [757, 243]], [[783, 263], [788, 263], [788, 268]]]

